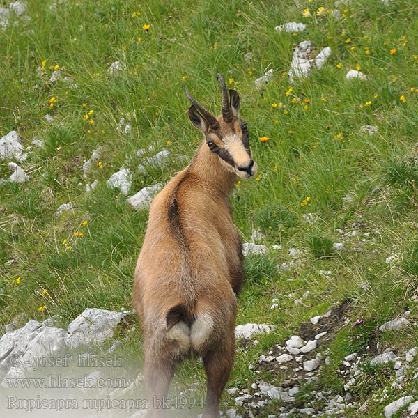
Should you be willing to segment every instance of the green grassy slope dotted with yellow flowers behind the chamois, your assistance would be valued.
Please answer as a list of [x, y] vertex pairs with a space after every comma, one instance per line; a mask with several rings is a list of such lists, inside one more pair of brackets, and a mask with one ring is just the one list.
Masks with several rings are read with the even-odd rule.
[[[259, 230], [264, 238], [257, 243], [281, 245], [245, 258], [237, 324], [277, 328], [238, 349], [228, 387], [249, 389], [259, 378], [280, 385], [280, 374], [256, 374], [248, 365], [344, 300], [350, 321], [327, 346], [331, 362], [318, 387], [343, 394], [346, 382], [335, 371], [369, 341], [400, 353], [417, 346], [416, 326], [396, 333], [378, 327], [404, 311], [411, 323], [418, 316], [411, 299], [418, 292], [418, 3], [334, 3], [28, 1], [27, 12], [0, 31], [0, 137], [15, 130], [25, 150], [35, 139], [44, 148], [33, 146], [20, 164], [29, 181], [0, 183], [0, 325], [21, 312], [36, 320], [58, 314], [65, 326], [86, 307], [132, 309], [148, 212], [132, 209], [126, 198], [166, 183], [192, 158], [202, 138], [187, 118], [185, 89], [219, 114], [220, 72], [240, 94], [258, 163], [256, 178], [237, 182], [233, 219], [243, 242]], [[274, 30], [286, 22], [307, 29]], [[287, 72], [302, 40], [332, 54], [322, 69], [291, 84]], [[115, 61], [120, 70], [112, 75]], [[272, 80], [258, 90], [254, 80], [270, 69]], [[355, 69], [367, 79], [346, 79]], [[56, 70], [62, 77], [51, 82]], [[118, 123], [127, 114], [132, 128], [123, 133]], [[361, 132], [363, 125], [378, 131]], [[83, 163], [98, 146], [100, 164], [85, 177]], [[143, 157], [135, 155], [140, 148]], [[163, 149], [169, 160], [134, 173], [128, 196], [107, 187], [123, 164], [134, 169]], [[8, 162], [0, 160], [0, 178], [10, 176]], [[86, 192], [94, 180], [98, 186]], [[72, 208], [56, 217], [63, 203]], [[293, 260], [291, 248], [300, 250], [297, 263], [278, 268]], [[387, 262], [389, 256], [396, 257]], [[273, 299], [278, 307], [270, 309]], [[370, 326], [354, 343], [350, 326], [358, 318]], [[140, 333], [130, 333], [118, 352], [140, 359], [140, 341]], [[369, 400], [369, 408], [345, 416], [378, 417], [383, 394], [389, 402], [417, 393], [417, 380], [400, 390], [391, 387], [393, 378], [365, 369], [353, 396]], [[179, 370], [176, 385], [190, 382], [204, 393], [201, 365]], [[233, 397], [224, 401], [234, 406]]]

